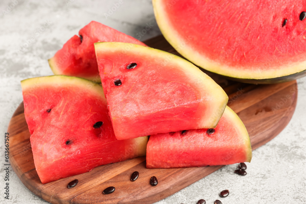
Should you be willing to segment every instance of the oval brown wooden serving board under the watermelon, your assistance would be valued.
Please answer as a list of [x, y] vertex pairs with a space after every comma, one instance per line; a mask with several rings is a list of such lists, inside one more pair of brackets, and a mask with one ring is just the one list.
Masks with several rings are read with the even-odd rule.
[[[145, 43], [177, 54], [162, 36]], [[208, 74], [229, 95], [228, 105], [244, 122], [253, 150], [273, 139], [290, 121], [297, 103], [296, 81], [253, 85]], [[146, 169], [145, 157], [139, 157], [99, 166], [91, 172], [42, 184], [34, 166], [23, 103], [13, 114], [8, 132], [9, 161], [17, 176], [30, 191], [51, 203], [154, 203], [223, 167]], [[136, 181], [131, 182], [130, 176], [134, 171], [138, 171], [140, 175]], [[151, 176], [157, 177], [157, 186], [149, 184]], [[67, 184], [74, 179], [78, 179], [79, 183], [68, 189]], [[102, 194], [109, 186], [116, 187], [114, 193]]]

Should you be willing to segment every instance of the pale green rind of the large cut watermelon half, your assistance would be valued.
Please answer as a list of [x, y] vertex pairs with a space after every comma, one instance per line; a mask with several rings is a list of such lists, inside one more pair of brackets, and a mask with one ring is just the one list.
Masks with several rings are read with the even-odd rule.
[[[248, 80], [264, 80], [259, 83], [270, 83], [270, 80], [274, 78], [280, 78], [279, 80], [282, 81], [290, 81], [301, 76], [294, 76], [294, 78], [285, 78], [282, 79], [281, 77], [290, 76], [293, 74], [298, 74], [299, 72], [304, 73], [303, 71], [306, 70], [306, 61], [302, 62], [295, 62], [291, 65], [283, 65], [282, 67], [275, 67], [275, 69], [271, 70], [254, 70], [254, 67], [250, 67], [246, 70], [237, 70], [235, 67], [228, 66], [228, 65], [221, 65], [218, 62], [210, 60], [208, 57], [200, 54], [196, 50], [194, 50], [191, 46], [188, 46], [188, 39], [184, 39], [174, 28], [174, 26], [170, 23], [169, 18], [164, 12], [164, 7], [167, 5], [163, 3], [162, 0], [152, 0], [153, 10], [155, 14], [155, 18], [157, 24], [159, 26], [160, 31], [162, 32], [163, 36], [166, 40], [180, 53], [183, 57], [187, 58], [194, 64], [206, 69], [210, 72], [217, 73], [219, 75], [231, 77], [233, 80], [236, 78], [238, 81], [243, 81], [247, 83], [256, 83], [256, 81]], [[181, 45], [185, 45], [182, 49], [180, 48]], [[178, 49], [177, 49], [178, 48]], [[278, 83], [272, 81], [272, 83]]]

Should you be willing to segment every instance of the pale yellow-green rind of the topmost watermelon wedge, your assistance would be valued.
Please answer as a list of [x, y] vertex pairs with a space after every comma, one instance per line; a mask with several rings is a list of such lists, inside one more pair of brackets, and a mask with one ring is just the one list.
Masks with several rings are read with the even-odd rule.
[[[218, 105], [213, 104], [213, 105], [218, 106], [218, 107], [213, 108], [215, 110], [218, 110], [218, 112], [215, 112], [211, 116], [211, 118], [209, 118], [209, 121], [211, 122], [210, 127], [205, 127], [205, 128], [215, 128], [217, 126], [218, 121], [220, 120], [226, 108], [226, 104], [228, 102], [228, 96], [226, 95], [225, 91], [213, 79], [211, 79], [211, 77], [209, 77], [207, 74], [202, 72], [199, 68], [197, 68], [191, 62], [177, 55], [166, 52], [166, 51], [158, 50], [158, 49], [151, 48], [151, 47], [131, 44], [131, 43], [99, 42], [99, 43], [94, 43], [94, 44], [95, 44], [96, 55], [97, 53], [99, 53], [99, 50], [102, 50], [103, 52], [104, 51], [109, 51], [109, 52], [132, 51], [134, 53], [139, 52], [141, 54], [147, 53], [148, 57], [152, 59], [160, 57], [161, 59], [164, 59], [164, 62], [169, 61], [170, 59], [171, 63], [176, 63], [177, 67], [181, 68], [184, 71], [185, 76], [188, 76], [190, 80], [194, 80], [193, 82], [198, 84], [197, 88], [200, 90], [200, 93], [205, 93], [207, 92], [207, 90], [209, 90], [211, 93], [213, 93], [213, 96], [215, 98], [218, 98], [218, 102], [219, 102]], [[205, 97], [205, 95], [203, 95], [203, 97]], [[112, 118], [111, 112], [110, 112], [110, 117]], [[202, 117], [202, 123], [203, 124], [207, 123], [206, 121], [207, 121], [207, 118]], [[202, 125], [202, 128], [204, 128], [204, 126], [205, 125]]]

